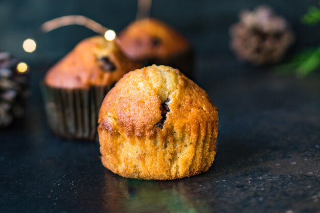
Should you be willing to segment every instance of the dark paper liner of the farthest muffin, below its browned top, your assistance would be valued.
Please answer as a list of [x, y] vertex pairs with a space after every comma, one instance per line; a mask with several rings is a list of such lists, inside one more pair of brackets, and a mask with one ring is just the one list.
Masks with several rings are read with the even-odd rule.
[[179, 69], [181, 73], [185, 74], [188, 78], [194, 79], [194, 51], [189, 49], [186, 52], [181, 52], [171, 55], [167, 58], [151, 58], [142, 61], [145, 66], [152, 64], [167, 65]]

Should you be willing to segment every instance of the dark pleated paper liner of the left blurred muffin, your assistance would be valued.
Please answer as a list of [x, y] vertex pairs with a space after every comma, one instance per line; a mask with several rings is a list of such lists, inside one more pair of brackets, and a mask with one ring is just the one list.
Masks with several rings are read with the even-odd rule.
[[49, 126], [62, 137], [95, 140], [98, 114], [110, 86], [89, 89], [61, 89], [41, 82]]

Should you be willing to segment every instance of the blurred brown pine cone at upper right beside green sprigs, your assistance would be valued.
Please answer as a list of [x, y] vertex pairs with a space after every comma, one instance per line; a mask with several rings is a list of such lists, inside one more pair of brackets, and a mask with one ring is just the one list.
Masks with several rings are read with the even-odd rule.
[[255, 65], [280, 61], [294, 41], [286, 20], [266, 6], [241, 12], [230, 32], [231, 47], [238, 57]]

